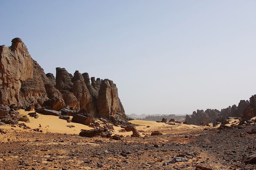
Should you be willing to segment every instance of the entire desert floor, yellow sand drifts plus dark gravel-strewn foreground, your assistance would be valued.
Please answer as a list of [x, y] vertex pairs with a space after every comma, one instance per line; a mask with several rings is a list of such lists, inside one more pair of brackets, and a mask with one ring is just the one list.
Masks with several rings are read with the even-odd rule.
[[[0, 126], [6, 132], [0, 133], [0, 169], [194, 170], [197, 165], [212, 169], [256, 169], [255, 164], [241, 162], [244, 155], [256, 152], [256, 134], [246, 133], [255, 126], [218, 130], [217, 127], [133, 120], [130, 122], [140, 125], [136, 128], [143, 137], [130, 137], [132, 132], [121, 132], [121, 127], [114, 126], [112, 133], [124, 136], [116, 141], [80, 137], [80, 129], [92, 128], [68, 123], [56, 116], [39, 115], [38, 119], [29, 119], [30, 123], [25, 124], [31, 129]], [[237, 122], [231, 120], [230, 123]], [[71, 124], [75, 127], [67, 127]], [[32, 130], [37, 128], [43, 132]], [[163, 135], [149, 136], [155, 130]], [[189, 160], [167, 164], [174, 156]]]

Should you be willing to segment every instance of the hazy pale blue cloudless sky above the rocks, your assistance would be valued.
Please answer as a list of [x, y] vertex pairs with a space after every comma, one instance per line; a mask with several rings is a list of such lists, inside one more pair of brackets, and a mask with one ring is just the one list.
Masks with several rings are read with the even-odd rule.
[[256, 94], [256, 1], [1, 1], [45, 73], [111, 79], [126, 114], [192, 114]]

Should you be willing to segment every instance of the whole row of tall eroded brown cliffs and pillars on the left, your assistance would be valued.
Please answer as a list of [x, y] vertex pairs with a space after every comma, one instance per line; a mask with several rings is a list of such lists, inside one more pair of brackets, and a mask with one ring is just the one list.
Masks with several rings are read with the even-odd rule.
[[76, 70], [72, 75], [60, 67], [56, 68], [56, 78], [45, 74], [20, 38], [14, 38], [11, 47], [0, 46], [0, 55], [1, 105], [49, 106], [57, 111], [69, 106], [77, 111], [86, 109], [95, 117], [128, 120], [113, 81], [95, 81], [94, 77], [90, 81], [88, 73]]

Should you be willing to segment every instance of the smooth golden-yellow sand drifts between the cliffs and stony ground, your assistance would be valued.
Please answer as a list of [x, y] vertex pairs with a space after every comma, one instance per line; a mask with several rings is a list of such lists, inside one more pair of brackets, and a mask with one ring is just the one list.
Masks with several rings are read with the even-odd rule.
[[[28, 115], [28, 113], [35, 112], [33, 111], [24, 111], [23, 109], [18, 110], [20, 115]], [[43, 133], [45, 132], [50, 132], [50, 133], [66, 133], [66, 134], [79, 134], [81, 129], [93, 129], [90, 128], [89, 126], [79, 124], [79, 123], [74, 123], [74, 122], [67, 122], [66, 120], [59, 119], [58, 116], [52, 116], [52, 115], [41, 115], [38, 114], [39, 118], [35, 119], [34, 117], [30, 117], [29, 121], [30, 123], [25, 123], [25, 122], [19, 122], [19, 123], [25, 123], [28, 127], [31, 129], [41, 129], [43, 130]], [[72, 116], [70, 116], [70, 119], [72, 119]], [[230, 123], [233, 123], [234, 121], [238, 120], [231, 120]], [[187, 125], [187, 124], [182, 124], [182, 123], [175, 123], [175, 125], [169, 125], [166, 123], [162, 122], [154, 122], [154, 121], [142, 121], [142, 120], [132, 120], [129, 121], [134, 124], [138, 124], [140, 126], [137, 126], [137, 130], [141, 133], [142, 137], [145, 135], [150, 135], [153, 131], [161, 129], [163, 134], [168, 134], [170, 133], [170, 129], [172, 130], [186, 130], [186, 129], [204, 129], [204, 126], [196, 126], [196, 125]], [[39, 127], [41, 125], [41, 127]], [[75, 127], [69, 128], [67, 125], [74, 125]], [[212, 124], [210, 124], [212, 126]], [[231, 124], [228, 124], [230, 126]], [[220, 125], [218, 125], [216, 128], [218, 128]], [[1, 126], [3, 129], [15, 129], [15, 130], [21, 130], [21, 131], [29, 131], [26, 129], [19, 128], [18, 126], [11, 127], [10, 125], [4, 125]], [[123, 135], [123, 136], [130, 136], [132, 135], [132, 132], [122, 132], [120, 131], [122, 128], [121, 127], [116, 127], [114, 126], [114, 129], [112, 131], [113, 135]]]

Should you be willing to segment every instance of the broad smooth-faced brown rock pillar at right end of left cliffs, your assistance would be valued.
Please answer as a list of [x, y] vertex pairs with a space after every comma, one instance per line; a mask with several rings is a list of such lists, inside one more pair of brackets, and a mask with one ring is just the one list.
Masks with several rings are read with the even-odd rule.
[[124, 108], [118, 98], [116, 84], [113, 81], [108, 79], [101, 81], [97, 107], [99, 117], [115, 116], [116, 112], [124, 114]]

